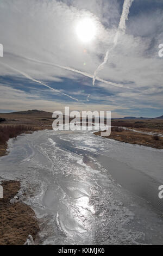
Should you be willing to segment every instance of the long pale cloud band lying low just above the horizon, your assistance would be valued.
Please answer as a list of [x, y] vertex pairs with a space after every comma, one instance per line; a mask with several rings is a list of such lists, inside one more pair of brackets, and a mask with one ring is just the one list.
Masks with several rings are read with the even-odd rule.
[[121, 107], [113, 105], [83, 105], [80, 102], [78, 103], [78, 105], [73, 102], [67, 102], [67, 104], [65, 104], [64, 101], [46, 100], [45, 98], [43, 98], [42, 94], [37, 95], [36, 90], [27, 93], [9, 86], [3, 86], [3, 84], [0, 84], [0, 90], [2, 95], [0, 101], [0, 109], [11, 109], [12, 111], [18, 111], [21, 109], [21, 111], [26, 111], [27, 109], [35, 108], [40, 110], [43, 109], [44, 111], [49, 112], [54, 112], [58, 110], [64, 112], [64, 107], [69, 106], [71, 111], [94, 111], [95, 109], [97, 111], [114, 111], [114, 113], [112, 113], [112, 117], [122, 117], [122, 115], [116, 113], [116, 109], [121, 109]]

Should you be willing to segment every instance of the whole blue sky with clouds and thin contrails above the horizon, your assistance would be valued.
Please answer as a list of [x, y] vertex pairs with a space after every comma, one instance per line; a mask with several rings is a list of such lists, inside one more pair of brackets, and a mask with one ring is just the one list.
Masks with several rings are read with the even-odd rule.
[[[163, 0], [134, 0], [118, 36], [123, 0], [1, 0], [0, 113], [40, 109], [163, 114]], [[92, 21], [90, 41], [77, 27]], [[108, 62], [92, 78], [109, 51]]]

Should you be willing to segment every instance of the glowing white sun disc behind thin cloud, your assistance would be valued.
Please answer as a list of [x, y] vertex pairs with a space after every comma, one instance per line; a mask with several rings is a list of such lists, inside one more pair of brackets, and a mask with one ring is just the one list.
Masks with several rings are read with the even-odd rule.
[[96, 24], [90, 18], [80, 20], [76, 27], [78, 38], [83, 42], [90, 42], [96, 35]]

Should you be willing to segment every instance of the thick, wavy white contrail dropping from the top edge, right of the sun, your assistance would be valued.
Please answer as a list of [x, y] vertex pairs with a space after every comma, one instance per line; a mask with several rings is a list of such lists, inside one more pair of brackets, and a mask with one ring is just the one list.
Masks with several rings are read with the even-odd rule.
[[98, 74], [99, 70], [103, 69], [104, 65], [108, 62], [109, 51], [111, 52], [115, 48], [115, 46], [117, 45], [118, 35], [119, 35], [120, 31], [122, 31], [122, 32], [126, 31], [126, 21], [128, 20], [129, 9], [130, 9], [131, 4], [133, 3], [133, 1], [134, 0], [124, 0], [123, 11], [122, 11], [120, 23], [119, 23], [118, 30], [117, 30], [117, 32], [115, 34], [115, 37], [114, 37], [114, 45], [106, 52], [105, 57], [104, 57], [104, 61], [95, 70], [94, 75], [93, 75], [93, 81], [92, 81], [93, 86], [95, 85], [95, 81], [97, 80], [97, 74]]

